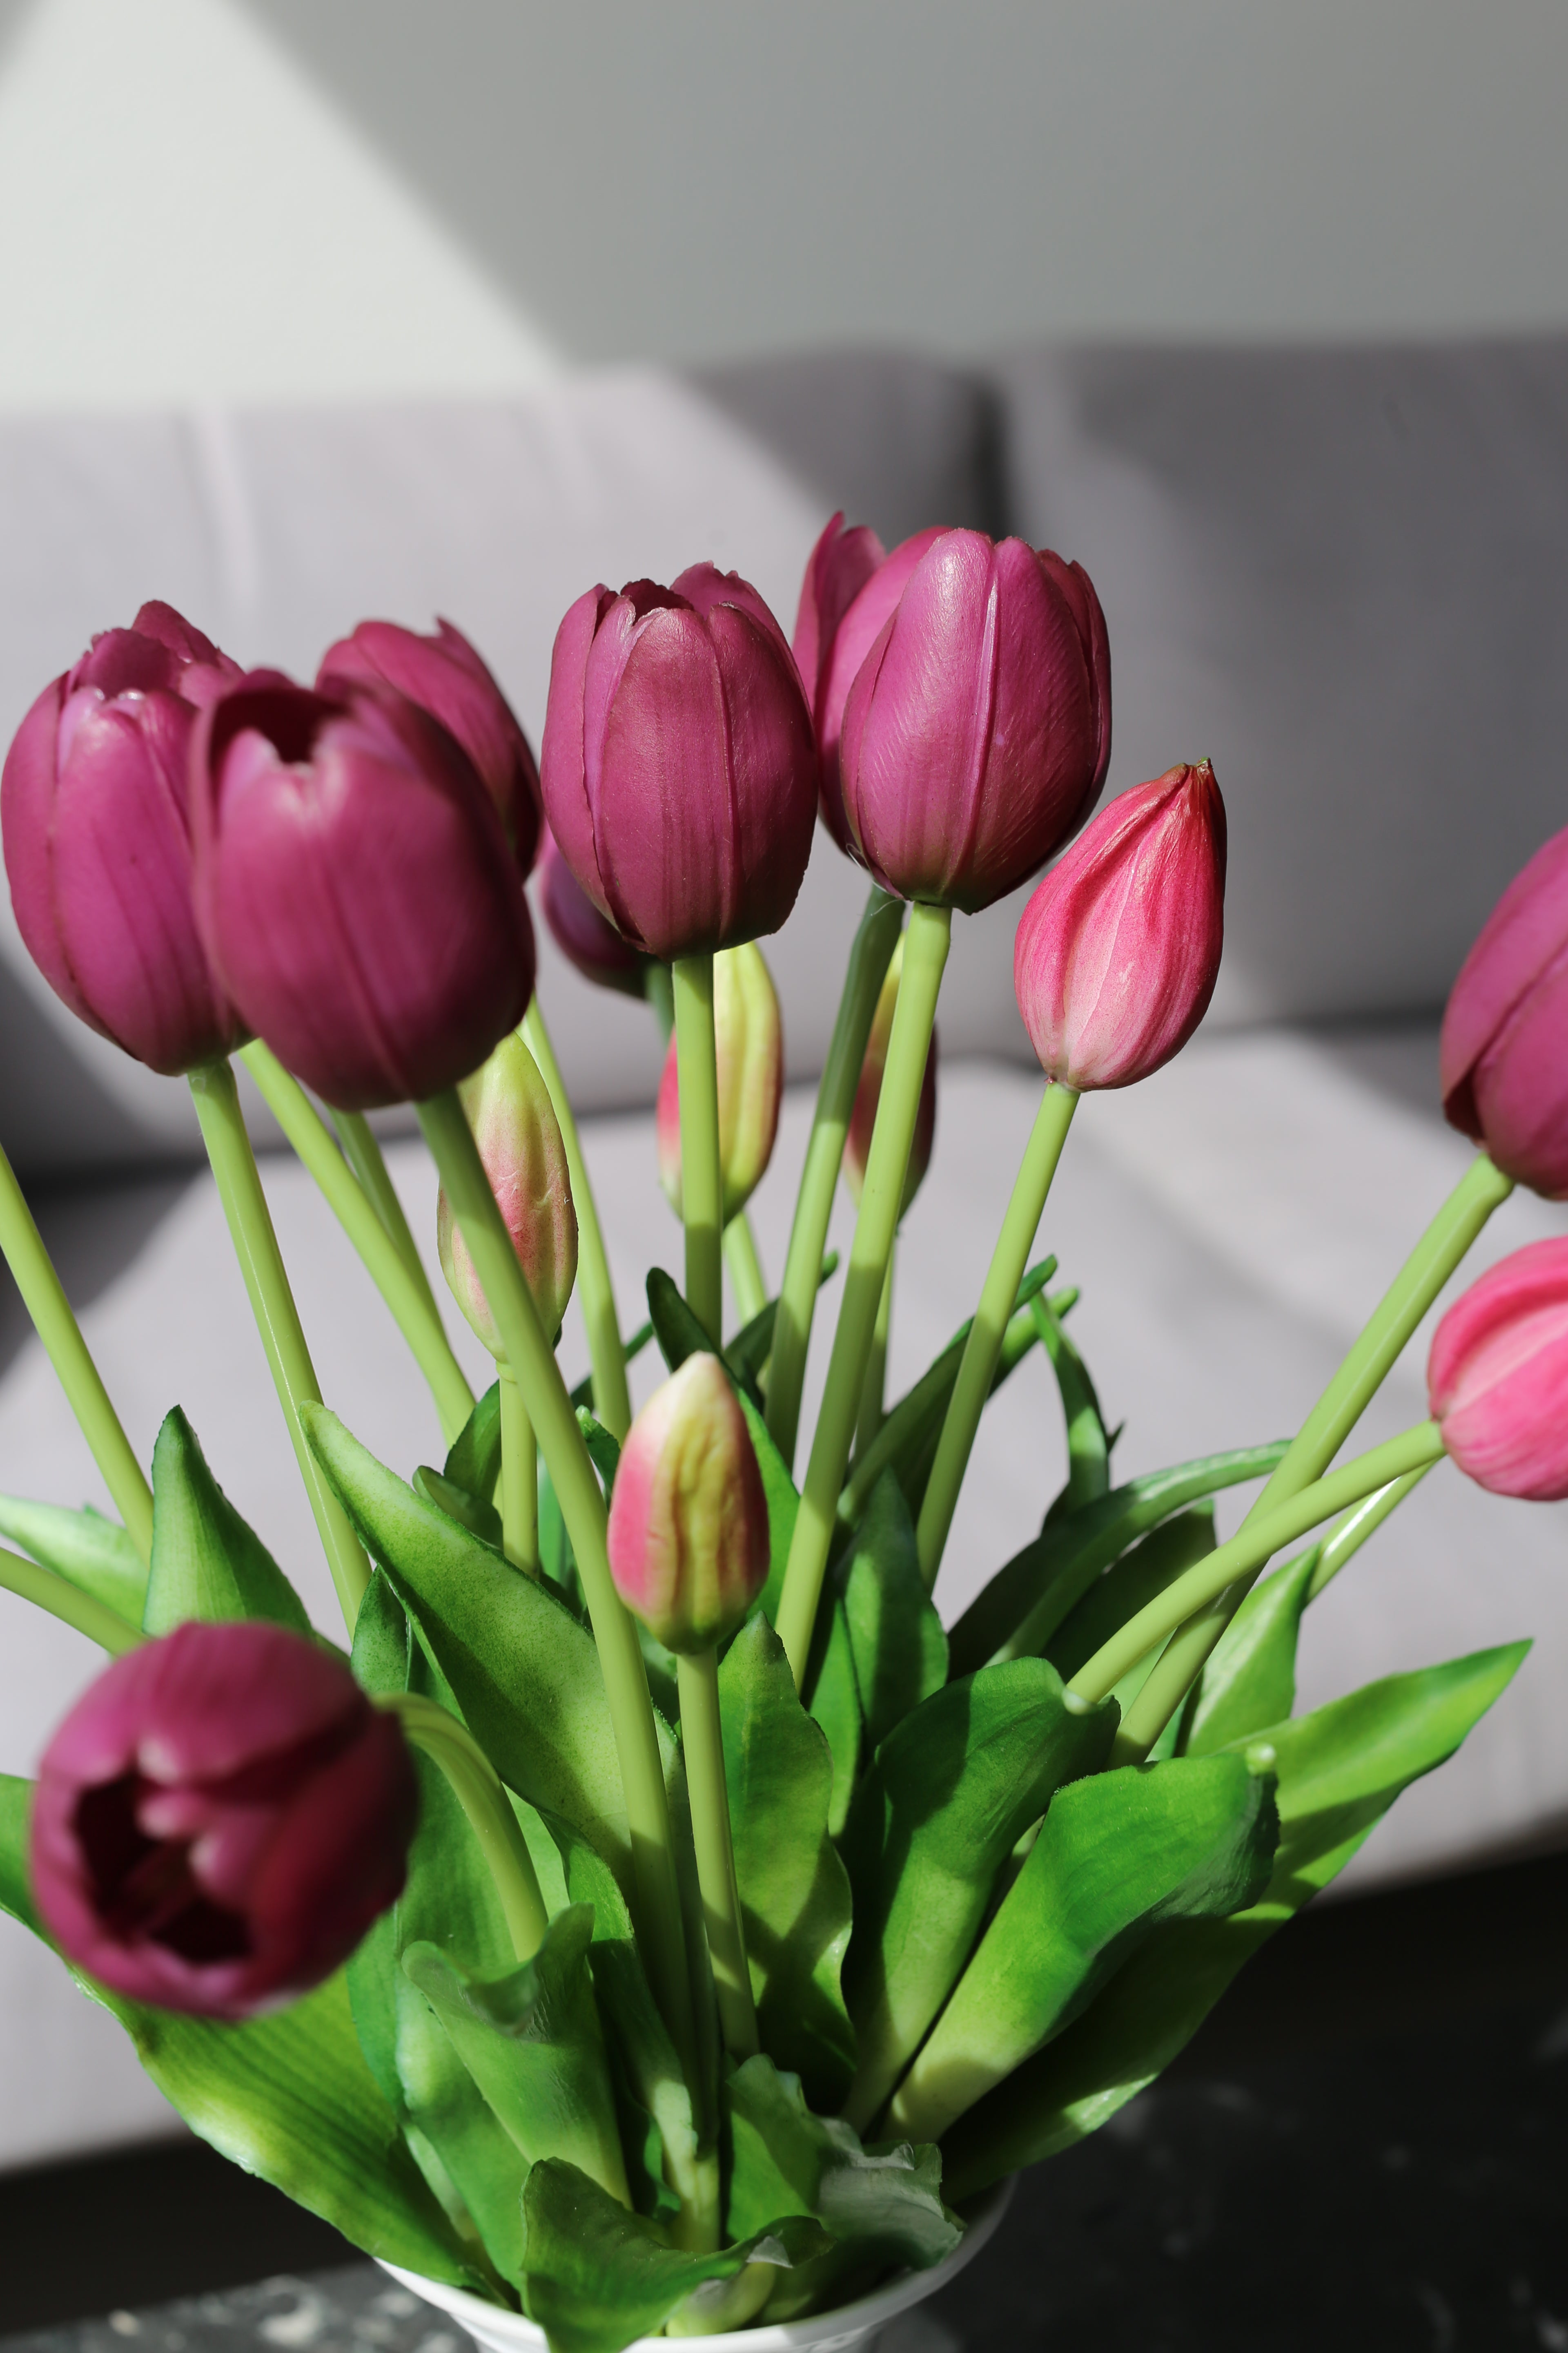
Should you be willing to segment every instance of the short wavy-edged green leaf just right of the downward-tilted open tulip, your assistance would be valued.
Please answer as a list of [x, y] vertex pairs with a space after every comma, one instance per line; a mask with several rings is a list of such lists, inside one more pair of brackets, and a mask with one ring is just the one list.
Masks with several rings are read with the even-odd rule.
[[409, 1944], [407, 1979], [423, 1993], [489, 2108], [529, 2165], [569, 2158], [625, 2198], [609, 2059], [588, 1981], [592, 1906], [571, 1904], [531, 1960], [482, 1977], [435, 1944]]

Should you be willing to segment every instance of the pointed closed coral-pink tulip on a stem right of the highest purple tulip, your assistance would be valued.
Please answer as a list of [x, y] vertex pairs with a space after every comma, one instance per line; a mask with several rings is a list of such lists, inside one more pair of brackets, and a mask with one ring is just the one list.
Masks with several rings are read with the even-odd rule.
[[1213, 767], [1121, 793], [1018, 922], [1013, 991], [1046, 1078], [1131, 1087], [1208, 1012], [1225, 939], [1225, 802]]

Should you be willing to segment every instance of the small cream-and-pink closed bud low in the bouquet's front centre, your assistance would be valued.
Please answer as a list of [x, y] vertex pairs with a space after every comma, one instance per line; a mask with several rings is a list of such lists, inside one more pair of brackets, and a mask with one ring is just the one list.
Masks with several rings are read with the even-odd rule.
[[733, 1633], [769, 1574], [769, 1506], [717, 1355], [689, 1355], [632, 1421], [609, 1506], [625, 1607], [675, 1652]]

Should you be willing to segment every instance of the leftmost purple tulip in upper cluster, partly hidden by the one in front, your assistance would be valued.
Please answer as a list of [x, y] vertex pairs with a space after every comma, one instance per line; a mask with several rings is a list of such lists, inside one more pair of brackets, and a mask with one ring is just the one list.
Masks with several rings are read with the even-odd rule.
[[186, 760], [240, 668], [172, 605], [143, 605], [38, 696], [5, 760], [16, 927], [54, 993], [153, 1071], [242, 1038], [190, 904]]

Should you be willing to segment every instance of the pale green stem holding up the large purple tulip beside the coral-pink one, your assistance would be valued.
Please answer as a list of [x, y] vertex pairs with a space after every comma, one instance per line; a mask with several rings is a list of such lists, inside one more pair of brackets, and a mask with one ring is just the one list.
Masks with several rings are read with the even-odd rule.
[[919, 1089], [926, 1078], [926, 1052], [931, 1049], [931, 1024], [936, 1021], [936, 998], [943, 986], [947, 944], [952, 939], [952, 908], [917, 904], [910, 908], [910, 929], [903, 944], [903, 974], [898, 981], [898, 1007], [889, 1038], [882, 1094], [877, 1099], [877, 1125], [865, 1162], [865, 1186], [860, 1188], [860, 1214], [856, 1217], [856, 1240], [849, 1252], [844, 1299], [839, 1304], [839, 1327], [832, 1334], [827, 1360], [827, 1386], [823, 1409], [811, 1438], [811, 1461], [806, 1485], [795, 1515], [790, 1562], [785, 1567], [783, 1595], [778, 1600], [778, 1640], [785, 1647], [795, 1687], [799, 1689], [811, 1652], [816, 1605], [823, 1595], [823, 1572], [827, 1546], [837, 1518], [839, 1485], [849, 1464], [849, 1447], [856, 1433], [860, 1384], [865, 1360], [872, 1351], [877, 1308], [886, 1278], [889, 1252], [898, 1228], [903, 1205], [903, 1181], [910, 1169], [910, 1144], [914, 1139], [914, 1115]]

